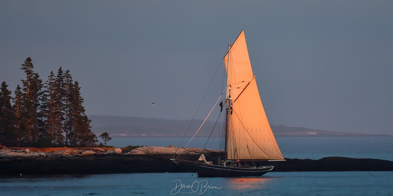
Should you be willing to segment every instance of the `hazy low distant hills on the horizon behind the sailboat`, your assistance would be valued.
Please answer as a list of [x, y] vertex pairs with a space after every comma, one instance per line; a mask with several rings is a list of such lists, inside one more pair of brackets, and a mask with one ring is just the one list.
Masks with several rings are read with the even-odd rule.
[[[168, 119], [153, 119], [140, 117], [120, 117], [120, 116], [97, 116], [90, 115], [92, 120], [90, 125], [92, 131], [98, 135], [108, 132], [111, 137], [192, 137], [199, 126], [201, 120], [181, 121]], [[191, 123], [191, 124], [190, 124]], [[199, 130], [197, 137], [219, 137], [219, 127], [216, 125], [212, 132], [214, 123], [206, 121], [204, 126]], [[391, 137], [391, 135], [372, 135], [364, 133], [347, 133], [337, 131], [326, 131], [310, 129], [305, 127], [289, 126], [272, 126], [273, 133], [276, 137]]]

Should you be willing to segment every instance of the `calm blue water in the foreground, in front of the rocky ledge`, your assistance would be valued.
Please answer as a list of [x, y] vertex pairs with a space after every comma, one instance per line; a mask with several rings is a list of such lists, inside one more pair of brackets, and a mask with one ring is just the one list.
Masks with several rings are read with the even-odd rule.
[[388, 196], [393, 172], [269, 172], [197, 178], [193, 173], [126, 173], [0, 178], [1, 196]]

